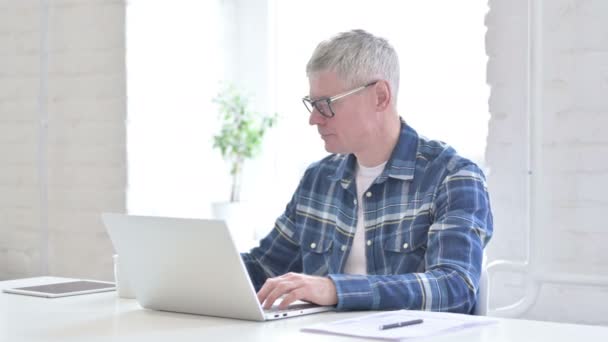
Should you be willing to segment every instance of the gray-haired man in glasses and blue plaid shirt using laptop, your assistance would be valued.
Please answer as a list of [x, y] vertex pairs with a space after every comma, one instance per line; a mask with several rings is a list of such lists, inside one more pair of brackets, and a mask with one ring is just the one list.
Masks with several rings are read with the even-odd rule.
[[306, 72], [309, 122], [333, 154], [242, 255], [260, 302], [471, 313], [492, 235], [481, 170], [399, 117], [399, 62], [385, 39], [339, 34]]

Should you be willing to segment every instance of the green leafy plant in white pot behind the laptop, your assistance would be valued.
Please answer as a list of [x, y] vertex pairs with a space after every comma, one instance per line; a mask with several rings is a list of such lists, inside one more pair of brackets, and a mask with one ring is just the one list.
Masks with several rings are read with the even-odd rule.
[[[243, 213], [246, 209], [239, 204], [244, 163], [259, 153], [264, 135], [276, 123], [277, 114], [254, 111], [250, 97], [234, 84], [224, 85], [213, 102], [218, 106], [221, 122], [219, 132], [213, 136], [213, 147], [228, 163], [232, 178], [230, 202], [214, 203], [213, 214], [235, 225], [237, 223], [230, 221], [247, 216]], [[253, 238], [253, 227], [250, 228]]]

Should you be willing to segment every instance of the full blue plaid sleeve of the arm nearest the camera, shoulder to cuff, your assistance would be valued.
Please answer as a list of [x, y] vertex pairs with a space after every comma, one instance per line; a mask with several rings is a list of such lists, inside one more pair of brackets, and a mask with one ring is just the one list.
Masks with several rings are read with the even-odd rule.
[[492, 235], [485, 178], [466, 165], [449, 173], [432, 204], [425, 272], [330, 274], [338, 310], [413, 309], [470, 313], [476, 302], [483, 248]]

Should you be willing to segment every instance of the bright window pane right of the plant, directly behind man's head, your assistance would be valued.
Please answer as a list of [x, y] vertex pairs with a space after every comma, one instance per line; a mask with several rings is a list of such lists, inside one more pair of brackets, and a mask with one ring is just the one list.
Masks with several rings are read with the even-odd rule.
[[290, 198], [306, 166], [326, 155], [300, 98], [316, 45], [361, 28], [387, 38], [400, 59], [399, 114], [419, 134], [450, 144], [484, 166], [489, 87], [485, 1], [275, 1], [276, 106], [283, 115], [275, 184]]

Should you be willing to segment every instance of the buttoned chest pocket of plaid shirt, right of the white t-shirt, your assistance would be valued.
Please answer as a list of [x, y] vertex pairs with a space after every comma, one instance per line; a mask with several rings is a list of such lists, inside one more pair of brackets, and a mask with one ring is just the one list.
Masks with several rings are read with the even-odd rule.
[[400, 226], [383, 238], [386, 269], [391, 274], [424, 272], [428, 228]]

